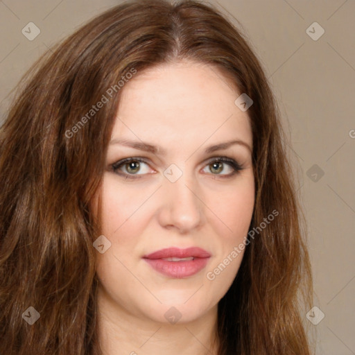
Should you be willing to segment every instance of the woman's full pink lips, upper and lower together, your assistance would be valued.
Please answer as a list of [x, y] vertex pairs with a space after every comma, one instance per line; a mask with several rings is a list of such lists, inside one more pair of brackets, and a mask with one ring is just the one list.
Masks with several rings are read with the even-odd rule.
[[[184, 261], [168, 261], [167, 258], [189, 258], [192, 260]], [[161, 274], [173, 277], [175, 279], [183, 279], [197, 274], [205, 268], [211, 254], [206, 250], [198, 247], [193, 248], [165, 248], [156, 252], [144, 255], [143, 259], [154, 270]]]

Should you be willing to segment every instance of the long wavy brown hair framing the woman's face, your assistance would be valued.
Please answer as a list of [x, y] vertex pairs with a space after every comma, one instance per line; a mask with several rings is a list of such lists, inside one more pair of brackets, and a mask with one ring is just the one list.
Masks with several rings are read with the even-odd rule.
[[[212, 6], [139, 0], [92, 19], [52, 51], [28, 71], [0, 131], [0, 353], [100, 354], [100, 223], [90, 202], [124, 89], [118, 83], [133, 70], [188, 59], [218, 67], [254, 101], [250, 231], [278, 212], [250, 240], [218, 304], [218, 355], [310, 354], [300, 315], [312, 294], [304, 217], [275, 99], [243, 35]], [[28, 307], [40, 315], [32, 325]]]

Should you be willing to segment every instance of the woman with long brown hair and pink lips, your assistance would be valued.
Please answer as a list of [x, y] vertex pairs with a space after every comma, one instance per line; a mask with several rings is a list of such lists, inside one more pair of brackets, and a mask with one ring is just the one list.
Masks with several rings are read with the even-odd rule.
[[28, 73], [1, 128], [0, 352], [310, 354], [270, 87], [195, 1], [130, 1]]

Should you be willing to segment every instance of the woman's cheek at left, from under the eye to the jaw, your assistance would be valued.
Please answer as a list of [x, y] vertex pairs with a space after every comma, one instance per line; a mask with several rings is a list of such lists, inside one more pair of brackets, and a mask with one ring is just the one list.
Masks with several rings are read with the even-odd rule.
[[[133, 184], [132, 184], [133, 186]], [[98, 254], [96, 269], [103, 288], [110, 296], [126, 302], [121, 287], [135, 286], [135, 278], [128, 270], [137, 261], [138, 236], [144, 231], [144, 209], [139, 206], [145, 196], [137, 188], [118, 184], [116, 176], [107, 174], [101, 189], [101, 234], [111, 243], [104, 254]]]

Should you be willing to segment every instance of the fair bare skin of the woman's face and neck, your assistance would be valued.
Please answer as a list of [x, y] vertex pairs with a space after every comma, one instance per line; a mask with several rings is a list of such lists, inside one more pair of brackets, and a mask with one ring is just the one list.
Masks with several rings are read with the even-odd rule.
[[[243, 242], [254, 208], [252, 130], [248, 112], [234, 104], [240, 94], [218, 69], [191, 61], [159, 65], [125, 83], [112, 141], [144, 141], [166, 154], [113, 142], [107, 150], [100, 193], [102, 234], [111, 247], [98, 253], [97, 269], [103, 354], [216, 354], [218, 301], [243, 252], [214, 280], [207, 272]], [[250, 149], [234, 144], [205, 153], [236, 139]], [[132, 164], [131, 170], [125, 164], [112, 170], [127, 157], [146, 159], [130, 175], [140, 178], [117, 173], [129, 175]], [[228, 176], [232, 166], [214, 167], [211, 157], [230, 157], [243, 170]], [[164, 175], [171, 164], [182, 172], [175, 182]], [[198, 246], [211, 258], [203, 270], [182, 279], [164, 276], [142, 259], [172, 246]], [[164, 317], [171, 307], [181, 314], [175, 324]]]

